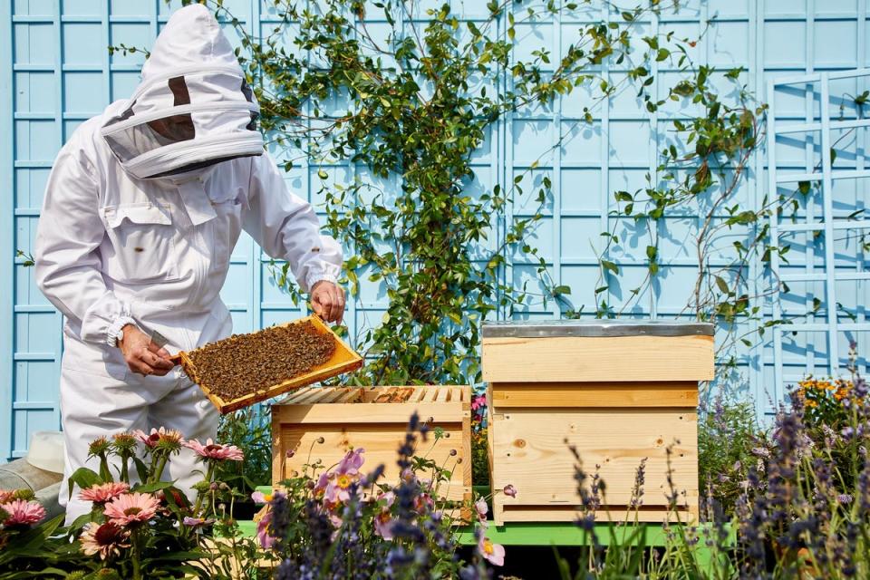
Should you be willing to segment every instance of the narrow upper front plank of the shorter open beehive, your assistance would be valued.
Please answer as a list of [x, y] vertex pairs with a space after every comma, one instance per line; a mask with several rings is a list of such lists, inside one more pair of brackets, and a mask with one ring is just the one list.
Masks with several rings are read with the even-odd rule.
[[333, 402], [325, 405], [285, 405], [281, 422], [296, 423], [400, 423], [407, 425], [414, 411], [420, 420], [460, 422], [462, 405], [458, 402], [358, 403]]

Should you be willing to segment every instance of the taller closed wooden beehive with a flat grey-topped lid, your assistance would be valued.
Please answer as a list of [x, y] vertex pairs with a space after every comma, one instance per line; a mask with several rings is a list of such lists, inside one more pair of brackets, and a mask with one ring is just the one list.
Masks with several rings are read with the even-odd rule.
[[[608, 511], [614, 521], [625, 519], [644, 458], [638, 519], [675, 519], [667, 513], [669, 448], [679, 517], [696, 519], [698, 382], [713, 378], [712, 333], [711, 324], [650, 321], [485, 324], [496, 524], [576, 518], [569, 446], [589, 476], [601, 466], [599, 521]], [[498, 492], [508, 484], [516, 498]]]

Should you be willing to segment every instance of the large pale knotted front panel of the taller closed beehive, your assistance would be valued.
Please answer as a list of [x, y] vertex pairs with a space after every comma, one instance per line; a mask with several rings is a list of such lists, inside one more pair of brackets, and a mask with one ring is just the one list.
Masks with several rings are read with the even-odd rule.
[[672, 476], [678, 491], [698, 495], [697, 416], [694, 412], [646, 410], [515, 410], [494, 412], [490, 434], [492, 488], [517, 488], [514, 504], [578, 504], [575, 459], [585, 471], [600, 465], [607, 501], [631, 502], [636, 469], [646, 458], [643, 502], [667, 503], [666, 449], [672, 441]]

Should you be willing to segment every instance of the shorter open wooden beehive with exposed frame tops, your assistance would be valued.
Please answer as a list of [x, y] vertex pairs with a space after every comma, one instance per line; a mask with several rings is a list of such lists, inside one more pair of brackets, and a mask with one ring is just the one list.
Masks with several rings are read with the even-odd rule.
[[[291, 393], [272, 406], [274, 484], [303, 473], [318, 459], [330, 468], [349, 449], [365, 449], [363, 472], [385, 468], [383, 481], [398, 482], [396, 452], [405, 439], [411, 415], [417, 411], [431, 430], [419, 442], [417, 454], [452, 470], [440, 484], [442, 498], [461, 501], [471, 497], [471, 403], [464, 386], [309, 387]], [[317, 440], [323, 437], [324, 442]], [[456, 453], [451, 454], [451, 449]], [[293, 451], [287, 457], [287, 451]], [[310, 471], [309, 471], [310, 473]], [[420, 476], [422, 477], [422, 476]]]

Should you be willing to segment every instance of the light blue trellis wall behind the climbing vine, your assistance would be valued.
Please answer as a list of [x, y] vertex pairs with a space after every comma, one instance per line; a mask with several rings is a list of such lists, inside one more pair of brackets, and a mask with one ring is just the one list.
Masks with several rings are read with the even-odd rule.
[[[486, 15], [485, 0], [450, 2], [466, 18]], [[274, 13], [265, 0], [226, 4], [252, 34], [267, 32], [275, 25], [271, 20]], [[427, 0], [418, 4], [424, 8], [443, 3]], [[721, 68], [742, 66], [742, 81], [761, 99], [770, 78], [863, 67], [870, 58], [867, 0], [685, 0], [680, 4], [683, 7], [678, 14], [669, 12], [661, 20], [638, 24], [640, 32], [673, 30], [681, 36], [697, 37], [705, 23], [714, 19], [694, 48], [693, 57], [696, 62]], [[138, 82], [143, 55], [110, 55], [106, 47], [118, 43], [150, 45], [174, 7], [164, 0], [10, 0], [0, 6], [0, 42], [4, 43], [0, 80], [5, 86], [0, 92], [0, 199], [5, 204], [0, 211], [0, 458], [21, 456], [29, 434], [57, 429], [60, 415], [61, 317], [36, 289], [32, 271], [24, 267], [23, 259], [14, 257], [15, 250], [33, 247], [43, 187], [63, 141], [108, 102], [129, 95]], [[377, 13], [372, 9], [370, 14]], [[618, 15], [600, 8], [590, 9], [584, 16], [585, 21], [612, 17], [619, 21]], [[545, 20], [518, 25], [519, 53], [545, 47], [557, 63], [581, 24]], [[378, 25], [375, 19], [370, 30], [375, 31]], [[665, 69], [654, 73], [659, 75], [659, 92], [666, 94], [675, 73]], [[608, 64], [604, 74], [618, 80], [624, 73]], [[537, 160], [526, 181], [549, 175], [554, 197], [548, 201], [535, 243], [556, 283], [572, 287], [576, 304], [594, 304], [598, 273], [593, 247], [600, 243], [600, 232], [615, 227], [625, 241], [614, 248], [612, 259], [621, 266], [623, 275], [610, 280], [608, 300], [619, 306], [629, 300], [630, 289], [645, 274], [646, 244], [633, 231], [633, 223], [614, 223], [609, 214], [612, 192], [643, 187], [644, 175], [654, 173], [657, 150], [667, 139], [662, 120], [689, 111], [669, 108], [651, 116], [642, 111], [628, 89], [599, 108], [591, 126], [584, 126], [576, 123], [584, 97], [582, 92], [575, 92], [551, 108], [518, 111], [499, 121], [475, 158], [478, 179], [470, 187], [488, 189], [496, 183], [509, 183]], [[786, 95], [777, 110], [778, 118], [804, 120], [811, 100], [812, 95], [807, 96], [799, 87], [796, 94]], [[560, 137], [565, 137], [564, 142], [541, 158]], [[795, 159], [783, 163], [806, 165], [808, 161], [802, 156], [811, 155], [812, 149], [801, 141], [789, 150]], [[742, 203], [758, 205], [767, 193], [766, 159], [759, 154], [753, 160], [752, 179], [740, 191]], [[329, 179], [365, 178], [359, 168], [303, 164], [287, 174], [287, 183], [297, 194], [319, 203], [320, 169], [326, 170]], [[863, 190], [860, 195], [853, 192], [841, 209], [863, 208], [862, 196]], [[527, 203], [520, 200], [514, 211], [529, 211], [532, 203], [531, 199]], [[658, 226], [665, 267], [654, 290], [633, 303], [630, 314], [682, 313], [695, 272], [691, 231], [696, 225], [697, 218], [682, 216]], [[811, 269], [807, 263], [815, 264], [817, 254], [811, 247], [804, 249], [792, 255], [791, 265]], [[524, 256], [509, 257], [508, 280], [517, 285], [534, 281], [535, 266]], [[751, 274], [756, 289], [769, 283], [760, 275], [759, 264], [753, 264]], [[865, 290], [860, 284], [853, 296], [856, 304], [864, 303]], [[797, 302], [812, 304], [812, 290], [800, 292]], [[236, 248], [223, 295], [241, 332], [300, 314], [271, 282], [268, 258], [247, 238]], [[361, 295], [349, 305], [352, 334], [380, 320], [383, 299], [381, 289], [363, 285]], [[551, 302], [546, 307], [533, 304], [517, 316], [559, 314], [559, 306]], [[740, 353], [742, 383], [747, 394], [758, 401], [760, 412], [772, 411], [773, 401], [781, 394], [781, 389], [771, 386], [774, 357], [781, 357], [786, 379], [793, 380], [807, 371], [824, 372], [824, 343], [822, 337], [809, 333], [802, 342], [787, 339], [785, 347], [780, 343], [776, 350], [772, 343], [764, 343]]]

